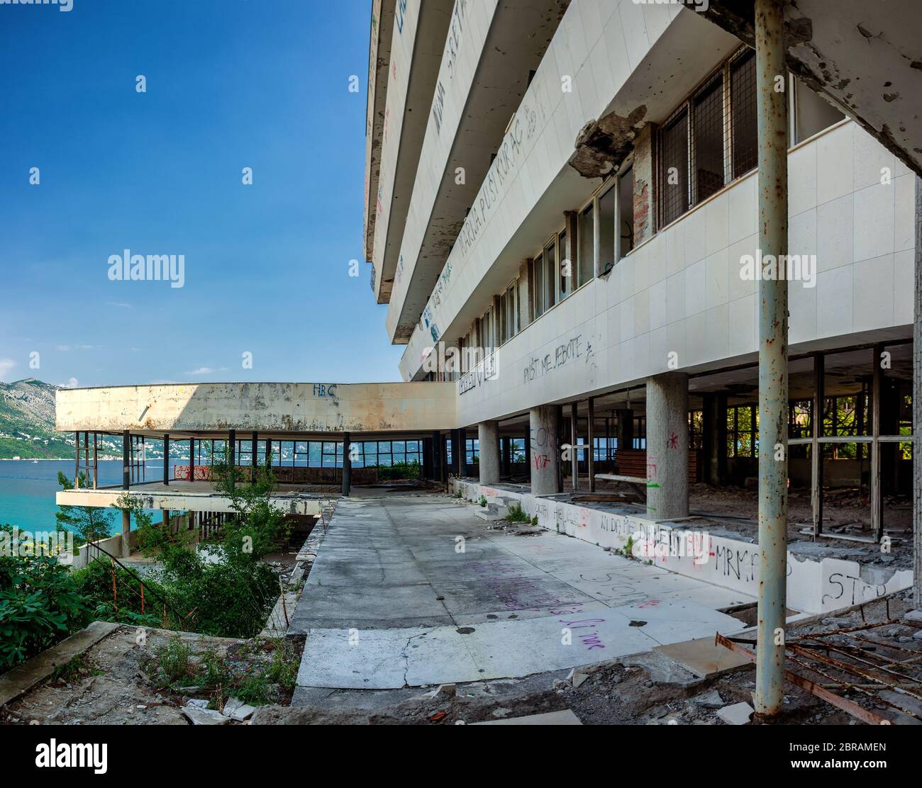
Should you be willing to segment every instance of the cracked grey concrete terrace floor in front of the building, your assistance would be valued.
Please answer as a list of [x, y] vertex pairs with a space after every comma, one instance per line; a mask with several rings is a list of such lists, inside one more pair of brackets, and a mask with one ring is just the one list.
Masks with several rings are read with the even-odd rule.
[[298, 685], [388, 689], [528, 676], [741, 629], [746, 594], [443, 496], [340, 500], [291, 618]]

